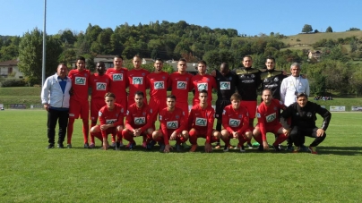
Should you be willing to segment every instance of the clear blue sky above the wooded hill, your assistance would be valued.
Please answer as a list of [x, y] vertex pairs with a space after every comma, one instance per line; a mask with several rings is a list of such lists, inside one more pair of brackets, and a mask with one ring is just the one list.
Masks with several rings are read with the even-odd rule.
[[[44, 0], [0, 0], [0, 35], [21, 36], [43, 30]], [[254, 36], [271, 32], [297, 35], [305, 24], [313, 30], [335, 32], [362, 29], [360, 0], [47, 0], [47, 34], [60, 30], [85, 31], [89, 23], [100, 28], [178, 22], [211, 29], [235, 29]]]

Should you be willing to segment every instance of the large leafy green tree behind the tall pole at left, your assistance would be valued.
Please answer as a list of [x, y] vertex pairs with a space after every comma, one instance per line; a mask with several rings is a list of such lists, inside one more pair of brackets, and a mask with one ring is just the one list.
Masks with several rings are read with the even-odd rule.
[[[46, 76], [54, 74], [58, 56], [62, 53], [61, 41], [47, 36]], [[40, 84], [42, 77], [43, 32], [35, 28], [26, 32], [19, 45], [19, 70], [24, 73], [29, 85]]]

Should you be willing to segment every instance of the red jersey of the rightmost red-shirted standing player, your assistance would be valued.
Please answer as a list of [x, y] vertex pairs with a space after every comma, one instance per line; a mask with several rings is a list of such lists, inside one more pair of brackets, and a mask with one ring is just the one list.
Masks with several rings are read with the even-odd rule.
[[206, 75], [194, 75], [193, 79], [194, 85], [194, 101], [200, 103], [199, 100], [199, 91], [205, 89], [207, 90], [207, 101], [211, 104], [212, 101], [212, 89], [217, 89], [215, 78], [209, 74]]

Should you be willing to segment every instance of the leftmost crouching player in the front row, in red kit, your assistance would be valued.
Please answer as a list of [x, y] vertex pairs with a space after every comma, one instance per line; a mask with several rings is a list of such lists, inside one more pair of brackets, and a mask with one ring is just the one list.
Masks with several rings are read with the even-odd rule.
[[[125, 109], [123, 106], [116, 104], [115, 94], [108, 92], [104, 96], [106, 106], [99, 110], [99, 125], [95, 125], [90, 129], [90, 135], [102, 141], [103, 149], [108, 149], [108, 134], [117, 137], [116, 149], [120, 148], [120, 139], [124, 129]], [[93, 140], [94, 144], [94, 140]]]

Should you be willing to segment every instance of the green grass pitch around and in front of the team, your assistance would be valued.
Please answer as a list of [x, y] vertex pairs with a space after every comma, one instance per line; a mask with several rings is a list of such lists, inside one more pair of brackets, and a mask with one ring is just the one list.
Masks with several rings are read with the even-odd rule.
[[195, 153], [163, 154], [84, 149], [80, 120], [72, 149], [46, 149], [44, 110], [0, 111], [0, 202], [359, 202], [361, 116], [332, 113], [319, 155], [206, 154], [204, 140]]

